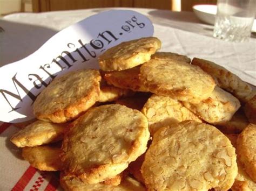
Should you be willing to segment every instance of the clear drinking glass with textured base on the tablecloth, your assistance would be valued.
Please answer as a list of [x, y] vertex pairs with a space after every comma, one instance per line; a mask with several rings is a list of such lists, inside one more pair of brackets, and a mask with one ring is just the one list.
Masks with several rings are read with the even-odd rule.
[[255, 17], [256, 0], [218, 0], [213, 37], [227, 41], [248, 41]]

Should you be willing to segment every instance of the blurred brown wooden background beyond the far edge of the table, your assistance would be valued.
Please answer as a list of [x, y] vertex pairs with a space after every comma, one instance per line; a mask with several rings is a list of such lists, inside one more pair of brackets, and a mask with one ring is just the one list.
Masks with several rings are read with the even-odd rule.
[[216, 4], [217, 0], [0, 0], [0, 15], [16, 12], [45, 12], [107, 7], [134, 7], [192, 11], [195, 4]]

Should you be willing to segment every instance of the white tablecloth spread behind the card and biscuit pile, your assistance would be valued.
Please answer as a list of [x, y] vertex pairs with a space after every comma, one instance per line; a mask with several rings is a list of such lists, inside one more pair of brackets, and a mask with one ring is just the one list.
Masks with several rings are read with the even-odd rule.
[[[116, 9], [116, 8], [115, 8]], [[126, 8], [129, 9], [129, 8]], [[0, 66], [28, 56], [65, 27], [107, 9], [45, 13], [17, 13], [0, 19]], [[163, 42], [161, 51], [185, 54], [217, 62], [241, 79], [256, 85], [256, 37], [247, 43], [230, 43], [212, 37], [213, 26], [201, 23], [193, 12], [132, 9], [146, 15], [154, 36]]]

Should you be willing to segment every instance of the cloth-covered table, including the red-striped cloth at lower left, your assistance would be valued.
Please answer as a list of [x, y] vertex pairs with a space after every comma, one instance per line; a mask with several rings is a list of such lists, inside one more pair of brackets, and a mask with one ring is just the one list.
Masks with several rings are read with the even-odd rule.
[[[16, 13], [3, 17], [0, 19], [0, 26], [4, 29], [0, 33], [0, 66], [25, 58], [58, 31], [105, 10], [109, 9]], [[255, 36], [247, 43], [230, 43], [214, 39], [213, 26], [201, 23], [193, 12], [138, 8], [130, 10], [138, 11], [151, 19], [154, 36], [163, 42], [161, 51], [214, 61], [241, 79], [256, 85]], [[14, 186], [16, 190], [59, 189], [55, 174], [36, 171], [28, 162], [19, 159], [20, 151], [9, 141], [10, 135], [16, 131], [18, 129], [11, 124], [0, 122], [0, 189], [10, 190]]]

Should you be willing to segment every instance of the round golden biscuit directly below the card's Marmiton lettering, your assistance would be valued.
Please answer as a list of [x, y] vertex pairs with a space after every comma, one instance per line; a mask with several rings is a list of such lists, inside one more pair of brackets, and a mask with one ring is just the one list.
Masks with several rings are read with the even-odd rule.
[[53, 80], [33, 105], [38, 119], [64, 123], [78, 117], [99, 100], [98, 70], [83, 69]]

